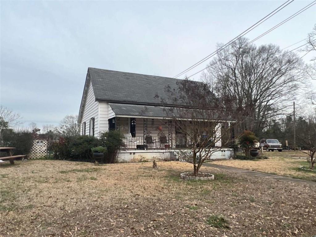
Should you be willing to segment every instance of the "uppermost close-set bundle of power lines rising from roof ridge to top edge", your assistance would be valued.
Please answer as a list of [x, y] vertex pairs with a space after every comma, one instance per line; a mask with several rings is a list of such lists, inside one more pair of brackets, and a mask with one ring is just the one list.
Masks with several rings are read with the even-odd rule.
[[[209, 59], [210, 57], [213, 56], [213, 54], [216, 54], [217, 52], [220, 52], [221, 50], [223, 50], [224, 48], [226, 48], [227, 46], [229, 46], [230, 44], [234, 43], [236, 40], [238, 40], [240, 37], [246, 35], [247, 33], [249, 33], [250, 31], [252, 31], [254, 28], [258, 27], [260, 24], [262, 24], [264, 21], [268, 20], [271, 16], [275, 15], [277, 12], [279, 12], [280, 10], [282, 10], [284, 7], [286, 7], [287, 5], [289, 5], [290, 3], [292, 3], [294, 0], [292, 1], [286, 1], [285, 3], [283, 3], [281, 6], [279, 6], [278, 8], [276, 8], [275, 10], [273, 10], [272, 12], [270, 12], [268, 15], [266, 15], [264, 18], [262, 18], [260, 21], [256, 22], [255, 24], [253, 24], [251, 27], [249, 27], [248, 29], [246, 29], [245, 31], [243, 31], [242, 33], [240, 33], [238, 36], [236, 36], [234, 39], [230, 40], [228, 43], [226, 43], [225, 45], [221, 46], [220, 49], [217, 49], [216, 51], [212, 52], [211, 54], [209, 54], [208, 56], [206, 56], [205, 58], [201, 59], [200, 61], [198, 61], [196, 64], [193, 64], [191, 67], [187, 68], [186, 70], [180, 72], [179, 74], [177, 74], [176, 76], [174, 76], [174, 78], [177, 78], [178, 76], [183, 75], [185, 72], [191, 70], [192, 68], [196, 67], [197, 65], [203, 63], [205, 60]], [[289, 2], [289, 3], [288, 3]], [[285, 6], [283, 6], [284, 4], [286, 4]], [[282, 8], [281, 8], [282, 7]], [[281, 9], [279, 9], [281, 8]], [[272, 14], [273, 13], [273, 14]], [[271, 15], [272, 14], [272, 15]], [[266, 18], [266, 19], [265, 19]], [[260, 22], [260, 23], [259, 23]], [[259, 24], [258, 24], [259, 23]], [[258, 25], [257, 25], [258, 24]], [[246, 33], [245, 33], [246, 32]], [[232, 42], [233, 41], [233, 42]], [[225, 47], [226, 46], [226, 47]], [[211, 56], [212, 55], [212, 56]]]

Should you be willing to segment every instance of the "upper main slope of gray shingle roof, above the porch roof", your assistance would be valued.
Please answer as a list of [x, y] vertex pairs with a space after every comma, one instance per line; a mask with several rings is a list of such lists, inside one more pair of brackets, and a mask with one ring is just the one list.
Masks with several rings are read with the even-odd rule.
[[[174, 79], [162, 76], [150, 76], [137, 73], [88, 68], [94, 95], [99, 101], [112, 101], [137, 104], [161, 104], [164, 98], [167, 104], [166, 86], [178, 88]], [[154, 98], [158, 94], [160, 98]]]

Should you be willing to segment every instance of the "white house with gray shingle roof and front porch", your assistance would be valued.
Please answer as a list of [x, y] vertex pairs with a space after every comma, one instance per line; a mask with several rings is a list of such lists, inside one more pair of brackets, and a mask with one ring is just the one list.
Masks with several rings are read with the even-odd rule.
[[[179, 80], [88, 68], [78, 116], [82, 135], [97, 137], [99, 132], [121, 131], [127, 147], [120, 152], [121, 160], [170, 155], [170, 149], [183, 146], [186, 138], [168, 124], [161, 100], [155, 95], [166, 99], [164, 106], [171, 104], [165, 86], [176, 88]], [[159, 131], [166, 134], [167, 143], [158, 137]], [[232, 149], [227, 148], [213, 155], [224, 159], [231, 156]]]

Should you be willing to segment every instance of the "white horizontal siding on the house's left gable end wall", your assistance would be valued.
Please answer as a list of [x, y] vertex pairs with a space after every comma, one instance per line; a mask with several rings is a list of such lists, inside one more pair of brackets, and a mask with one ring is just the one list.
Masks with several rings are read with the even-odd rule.
[[90, 135], [90, 119], [94, 118], [94, 137], [99, 133], [99, 102], [95, 101], [92, 84], [90, 82], [86, 103], [83, 110], [81, 124], [86, 122], [86, 135]]

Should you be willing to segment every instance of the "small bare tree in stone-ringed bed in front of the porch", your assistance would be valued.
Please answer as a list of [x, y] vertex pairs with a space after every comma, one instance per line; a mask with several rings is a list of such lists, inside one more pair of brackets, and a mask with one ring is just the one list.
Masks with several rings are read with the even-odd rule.
[[[164, 106], [165, 117], [176, 131], [175, 155], [193, 164], [193, 175], [197, 176], [205, 160], [232, 145], [233, 124], [227, 121], [232, 119], [228, 119], [225, 102], [205, 83], [182, 80], [177, 85], [177, 89], [166, 88], [168, 101], [174, 106]], [[164, 99], [161, 103], [167, 105]]]

